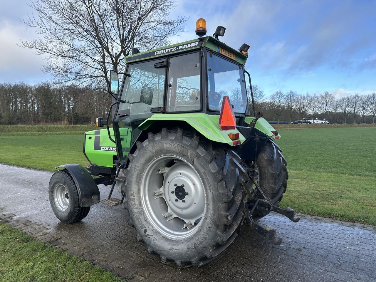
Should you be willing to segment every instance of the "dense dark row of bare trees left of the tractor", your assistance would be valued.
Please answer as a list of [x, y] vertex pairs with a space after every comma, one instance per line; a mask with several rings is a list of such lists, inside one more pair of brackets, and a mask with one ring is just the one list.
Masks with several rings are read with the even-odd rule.
[[0, 83], [0, 124], [94, 124], [111, 99], [102, 89], [50, 82]]

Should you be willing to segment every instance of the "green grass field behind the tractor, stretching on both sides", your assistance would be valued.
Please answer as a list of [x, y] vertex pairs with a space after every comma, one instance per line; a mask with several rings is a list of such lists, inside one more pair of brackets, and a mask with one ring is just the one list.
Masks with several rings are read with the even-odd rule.
[[[306, 214], [376, 226], [376, 128], [323, 126], [279, 129], [282, 138], [277, 143], [290, 175], [281, 205]], [[0, 162], [49, 171], [60, 164], [88, 165], [82, 153], [83, 132], [94, 128], [0, 126]], [[50, 135], [29, 135], [37, 133]]]

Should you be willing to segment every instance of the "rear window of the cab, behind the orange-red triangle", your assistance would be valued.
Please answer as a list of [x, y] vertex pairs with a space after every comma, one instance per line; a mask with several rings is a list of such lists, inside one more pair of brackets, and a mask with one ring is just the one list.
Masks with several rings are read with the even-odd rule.
[[209, 109], [220, 111], [223, 96], [229, 96], [234, 112], [246, 111], [247, 94], [243, 67], [208, 53]]

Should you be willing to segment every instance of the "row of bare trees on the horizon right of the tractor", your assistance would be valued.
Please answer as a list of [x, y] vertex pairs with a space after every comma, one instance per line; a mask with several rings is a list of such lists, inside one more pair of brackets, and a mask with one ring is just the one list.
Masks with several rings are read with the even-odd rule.
[[256, 109], [264, 112], [268, 121], [303, 120], [305, 117], [327, 120], [329, 123], [374, 123], [376, 94], [358, 93], [336, 99], [325, 91], [317, 94], [297, 94], [276, 91], [269, 99], [256, 101]]

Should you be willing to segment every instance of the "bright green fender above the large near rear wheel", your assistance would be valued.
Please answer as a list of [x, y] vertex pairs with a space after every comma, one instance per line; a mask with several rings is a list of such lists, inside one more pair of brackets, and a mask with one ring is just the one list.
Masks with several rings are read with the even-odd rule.
[[185, 121], [203, 136], [211, 141], [226, 143], [233, 146], [229, 133], [239, 133], [239, 139], [243, 143], [246, 138], [237, 129], [222, 131], [219, 123], [219, 115], [208, 114], [155, 114], [141, 123], [138, 128], [141, 130], [148, 129], [156, 121]]

